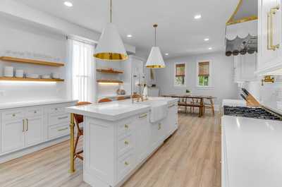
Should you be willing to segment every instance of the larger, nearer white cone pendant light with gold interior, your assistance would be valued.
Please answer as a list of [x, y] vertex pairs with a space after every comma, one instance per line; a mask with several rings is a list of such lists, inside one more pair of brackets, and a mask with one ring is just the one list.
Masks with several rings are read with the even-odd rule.
[[110, 23], [106, 24], [99, 39], [94, 57], [106, 61], [123, 61], [128, 59], [121, 36], [118, 34], [116, 25], [111, 23], [111, 0], [110, 0]]

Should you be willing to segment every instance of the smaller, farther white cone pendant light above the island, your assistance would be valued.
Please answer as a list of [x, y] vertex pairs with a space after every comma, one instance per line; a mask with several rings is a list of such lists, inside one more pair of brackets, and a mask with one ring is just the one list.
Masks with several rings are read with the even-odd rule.
[[154, 27], [154, 47], [152, 47], [149, 54], [146, 67], [147, 68], [165, 68], [163, 56], [161, 56], [161, 50], [157, 47], [157, 24], [153, 25]]

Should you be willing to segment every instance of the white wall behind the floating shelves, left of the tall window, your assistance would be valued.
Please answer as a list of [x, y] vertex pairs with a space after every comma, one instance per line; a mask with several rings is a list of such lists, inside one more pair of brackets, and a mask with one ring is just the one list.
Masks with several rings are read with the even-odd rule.
[[[66, 61], [66, 37], [29, 25], [20, 21], [0, 16], [0, 52], [7, 49], [18, 52], [33, 52], [59, 57]], [[66, 66], [56, 68], [29, 64], [14, 64], [0, 61], [0, 76], [4, 66], [23, 69], [26, 73], [47, 75], [59, 73], [66, 78]], [[0, 82], [0, 103], [23, 102], [37, 99], [58, 99], [66, 97], [66, 83], [3, 83]]]

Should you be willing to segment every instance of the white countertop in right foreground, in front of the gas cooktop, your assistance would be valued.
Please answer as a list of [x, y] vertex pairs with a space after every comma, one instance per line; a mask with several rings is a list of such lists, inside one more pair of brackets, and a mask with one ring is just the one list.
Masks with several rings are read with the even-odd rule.
[[227, 186], [282, 186], [282, 121], [223, 116]]

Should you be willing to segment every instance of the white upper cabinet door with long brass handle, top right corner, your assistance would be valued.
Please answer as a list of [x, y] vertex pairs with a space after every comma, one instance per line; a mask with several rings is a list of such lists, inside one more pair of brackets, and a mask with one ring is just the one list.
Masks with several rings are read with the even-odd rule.
[[271, 44], [281, 43], [281, 7], [274, 10], [275, 14], [269, 14], [279, 4], [278, 0], [261, 0], [259, 4], [259, 69], [267, 68], [271, 61], [278, 59], [281, 50], [281, 46], [270, 49]]

